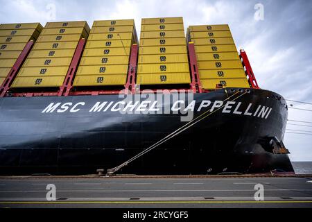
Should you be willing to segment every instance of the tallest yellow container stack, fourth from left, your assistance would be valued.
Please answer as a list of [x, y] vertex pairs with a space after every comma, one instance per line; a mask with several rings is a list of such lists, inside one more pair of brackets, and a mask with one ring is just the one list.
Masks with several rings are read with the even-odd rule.
[[141, 21], [137, 84], [191, 83], [183, 18]]

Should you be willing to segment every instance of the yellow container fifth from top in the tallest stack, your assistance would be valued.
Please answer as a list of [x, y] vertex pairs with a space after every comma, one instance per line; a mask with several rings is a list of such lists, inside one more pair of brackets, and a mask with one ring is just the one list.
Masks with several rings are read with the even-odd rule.
[[184, 54], [187, 46], [144, 46], [139, 48], [139, 55]]

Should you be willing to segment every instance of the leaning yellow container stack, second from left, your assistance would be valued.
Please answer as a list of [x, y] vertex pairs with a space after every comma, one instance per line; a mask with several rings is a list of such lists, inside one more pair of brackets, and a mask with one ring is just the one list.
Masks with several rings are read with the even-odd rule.
[[78, 42], [89, 32], [85, 21], [46, 23], [11, 87], [62, 86]]

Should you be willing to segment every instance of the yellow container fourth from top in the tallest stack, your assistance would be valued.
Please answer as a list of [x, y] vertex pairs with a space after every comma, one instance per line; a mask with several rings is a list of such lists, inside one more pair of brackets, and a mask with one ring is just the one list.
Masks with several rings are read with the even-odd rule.
[[166, 38], [166, 39], [141, 39], [140, 46], [185, 46], [185, 37]]

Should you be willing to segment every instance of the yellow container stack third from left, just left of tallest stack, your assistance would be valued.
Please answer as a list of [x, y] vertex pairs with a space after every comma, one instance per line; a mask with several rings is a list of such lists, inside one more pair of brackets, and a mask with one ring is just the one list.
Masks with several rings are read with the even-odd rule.
[[134, 19], [94, 21], [73, 86], [124, 85], [132, 44]]

